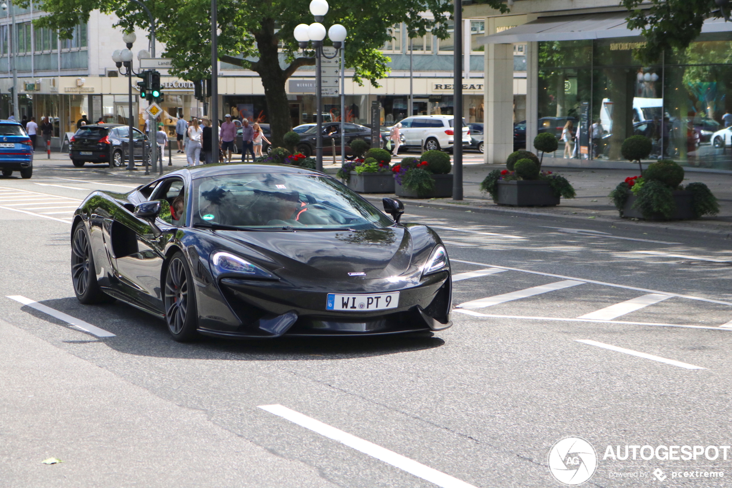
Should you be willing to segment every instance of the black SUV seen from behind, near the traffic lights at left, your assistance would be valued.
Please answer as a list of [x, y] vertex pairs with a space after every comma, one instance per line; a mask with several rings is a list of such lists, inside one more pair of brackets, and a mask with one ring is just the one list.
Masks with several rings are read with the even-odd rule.
[[[130, 151], [130, 127], [122, 124], [89, 124], [76, 131], [70, 141], [69, 157], [74, 166], [85, 162], [108, 162], [110, 167], [124, 166]], [[135, 161], [150, 159], [150, 141], [132, 127]]]

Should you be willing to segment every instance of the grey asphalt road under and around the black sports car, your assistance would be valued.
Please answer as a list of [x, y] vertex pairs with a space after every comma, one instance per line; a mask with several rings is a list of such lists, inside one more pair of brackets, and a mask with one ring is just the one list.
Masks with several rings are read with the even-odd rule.
[[142, 181], [0, 179], [0, 487], [560, 487], [548, 454], [566, 436], [597, 452], [588, 486], [732, 486], [728, 240], [408, 206], [447, 244], [451, 329], [179, 344], [72, 290], [73, 209]]

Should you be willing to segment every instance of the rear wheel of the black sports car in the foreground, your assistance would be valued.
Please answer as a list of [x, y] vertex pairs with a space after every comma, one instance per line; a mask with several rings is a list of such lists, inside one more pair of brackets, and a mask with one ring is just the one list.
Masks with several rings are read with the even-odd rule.
[[102, 291], [97, 283], [94, 255], [86, 227], [79, 222], [74, 228], [71, 240], [71, 281], [78, 301], [85, 305], [114, 301]]

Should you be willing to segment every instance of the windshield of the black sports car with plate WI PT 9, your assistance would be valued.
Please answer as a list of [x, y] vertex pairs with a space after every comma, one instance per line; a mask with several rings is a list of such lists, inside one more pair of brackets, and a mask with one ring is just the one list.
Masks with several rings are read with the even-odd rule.
[[195, 180], [192, 223], [278, 230], [359, 230], [393, 225], [376, 207], [335, 179], [288, 173]]

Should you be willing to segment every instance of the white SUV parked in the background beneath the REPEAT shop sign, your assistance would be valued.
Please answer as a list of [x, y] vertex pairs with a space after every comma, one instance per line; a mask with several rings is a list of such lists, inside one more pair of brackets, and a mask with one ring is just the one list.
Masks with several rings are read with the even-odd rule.
[[[424, 147], [430, 149], [447, 149], [452, 151], [454, 117], [451, 115], [425, 115], [407, 117], [400, 121], [400, 133], [404, 135], [404, 148]], [[470, 146], [470, 130], [463, 119], [463, 147]]]

